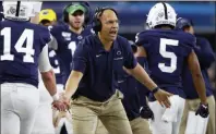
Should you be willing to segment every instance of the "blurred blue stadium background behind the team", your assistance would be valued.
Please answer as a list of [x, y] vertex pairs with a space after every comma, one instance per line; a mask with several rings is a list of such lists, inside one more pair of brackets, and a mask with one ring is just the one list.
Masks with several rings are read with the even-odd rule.
[[[2, 1], [0, 1], [0, 5]], [[43, 9], [53, 9], [61, 21], [63, 8], [70, 1], [45, 1]], [[117, 10], [120, 19], [120, 35], [134, 40], [135, 34], [145, 28], [146, 14], [156, 2], [153, 1], [91, 1], [93, 13], [97, 7], [111, 7]], [[216, 53], [216, 2], [214, 1], [170, 1], [178, 17], [187, 17], [194, 24], [197, 36], [206, 37]], [[0, 7], [2, 11], [2, 7]], [[2, 17], [2, 14], [0, 14]], [[216, 63], [209, 69], [211, 80], [216, 93]]]

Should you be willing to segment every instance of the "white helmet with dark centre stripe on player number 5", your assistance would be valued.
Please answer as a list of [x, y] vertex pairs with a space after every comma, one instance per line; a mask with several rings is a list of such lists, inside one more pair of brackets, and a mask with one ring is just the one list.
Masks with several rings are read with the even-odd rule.
[[177, 23], [177, 14], [175, 9], [165, 2], [156, 3], [147, 15], [147, 21], [149, 28], [154, 28], [157, 25], [171, 25], [176, 26]]

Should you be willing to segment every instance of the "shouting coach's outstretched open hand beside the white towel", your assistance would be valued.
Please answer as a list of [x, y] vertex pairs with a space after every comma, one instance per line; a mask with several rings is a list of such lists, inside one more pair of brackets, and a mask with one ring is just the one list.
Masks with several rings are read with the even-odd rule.
[[157, 99], [157, 101], [161, 105], [161, 107], [166, 107], [166, 108], [170, 108], [171, 103], [169, 101], [169, 97], [172, 96], [172, 94], [167, 93], [163, 89], [158, 89], [155, 94], [154, 94], [155, 98]]

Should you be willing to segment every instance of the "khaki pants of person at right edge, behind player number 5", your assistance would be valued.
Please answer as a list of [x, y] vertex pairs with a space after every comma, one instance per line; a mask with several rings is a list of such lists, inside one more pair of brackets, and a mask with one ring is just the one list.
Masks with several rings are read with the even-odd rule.
[[[182, 122], [181, 122], [179, 134], [184, 134], [187, 121], [188, 121], [188, 113], [189, 111], [196, 111], [200, 102], [201, 102], [200, 99], [192, 99], [192, 100], [185, 101], [185, 107], [184, 107], [183, 117], [181, 120]], [[215, 98], [214, 96], [207, 97], [207, 102], [209, 107], [209, 119], [208, 119], [206, 134], [215, 134]]]

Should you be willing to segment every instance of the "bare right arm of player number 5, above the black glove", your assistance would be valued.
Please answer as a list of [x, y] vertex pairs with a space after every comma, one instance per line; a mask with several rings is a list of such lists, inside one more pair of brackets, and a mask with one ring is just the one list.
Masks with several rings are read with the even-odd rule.
[[201, 99], [201, 102], [203, 105], [207, 105], [206, 94], [205, 94], [205, 83], [203, 80], [203, 75], [201, 73], [197, 57], [193, 50], [188, 57], [188, 65], [189, 65], [189, 70], [191, 71], [193, 83]]

